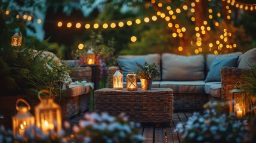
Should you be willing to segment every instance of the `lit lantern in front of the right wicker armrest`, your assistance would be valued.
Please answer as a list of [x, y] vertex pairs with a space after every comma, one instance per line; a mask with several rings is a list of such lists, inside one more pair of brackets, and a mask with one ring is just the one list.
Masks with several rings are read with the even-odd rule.
[[237, 82], [234, 89], [229, 92], [232, 93], [229, 113], [235, 117], [242, 117], [246, 114], [248, 107], [248, 102], [246, 102], [246, 91], [242, 89], [242, 84]]

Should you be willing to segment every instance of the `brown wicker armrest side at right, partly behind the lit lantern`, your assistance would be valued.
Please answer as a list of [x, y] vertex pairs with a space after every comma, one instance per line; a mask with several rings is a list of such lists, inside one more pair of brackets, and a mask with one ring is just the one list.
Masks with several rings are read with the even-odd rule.
[[[232, 101], [232, 93], [230, 91], [234, 88], [236, 82], [239, 81], [242, 84], [246, 82], [243, 75], [248, 72], [248, 69], [239, 69], [237, 67], [221, 68], [221, 101], [223, 103]], [[225, 104], [223, 106], [223, 113], [229, 114], [231, 105]]]

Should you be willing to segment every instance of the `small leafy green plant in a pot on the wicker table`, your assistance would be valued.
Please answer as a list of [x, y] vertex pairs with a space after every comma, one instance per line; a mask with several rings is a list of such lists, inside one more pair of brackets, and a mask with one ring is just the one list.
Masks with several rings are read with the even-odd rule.
[[140, 69], [137, 71], [136, 75], [141, 82], [141, 90], [151, 89], [152, 80], [160, 76], [160, 72], [156, 68], [156, 63], [147, 64], [144, 63], [144, 67], [136, 62], [137, 67]]

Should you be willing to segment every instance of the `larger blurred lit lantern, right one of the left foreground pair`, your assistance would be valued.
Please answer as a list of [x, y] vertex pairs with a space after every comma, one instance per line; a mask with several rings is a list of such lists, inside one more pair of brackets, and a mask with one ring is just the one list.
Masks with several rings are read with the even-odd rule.
[[38, 94], [41, 101], [35, 107], [36, 127], [42, 129], [44, 134], [61, 131], [61, 108], [53, 101], [53, 98], [41, 98], [40, 94], [50, 94], [47, 90], [42, 90]]

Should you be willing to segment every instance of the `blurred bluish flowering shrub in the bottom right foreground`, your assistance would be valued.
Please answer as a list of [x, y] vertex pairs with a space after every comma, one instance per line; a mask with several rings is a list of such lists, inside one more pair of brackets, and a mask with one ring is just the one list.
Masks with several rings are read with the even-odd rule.
[[243, 142], [249, 138], [246, 120], [218, 115], [212, 108], [206, 109], [202, 116], [193, 113], [184, 128], [182, 123], [178, 123], [175, 131], [181, 133], [183, 142]]

